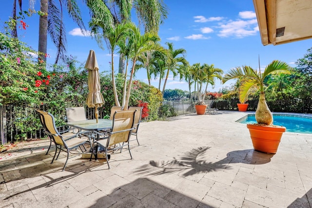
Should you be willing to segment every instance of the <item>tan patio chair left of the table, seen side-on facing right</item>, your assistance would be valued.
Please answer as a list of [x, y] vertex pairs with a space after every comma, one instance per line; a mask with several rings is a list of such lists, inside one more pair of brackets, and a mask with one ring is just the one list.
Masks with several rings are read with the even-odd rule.
[[[54, 157], [52, 159], [51, 164], [53, 163], [54, 159], [57, 160], [59, 158], [60, 151], [67, 152], [66, 162], [62, 170], [64, 171], [66, 168], [68, 158], [69, 158], [69, 151], [73, 149], [77, 149], [79, 147], [80, 150], [83, 152], [80, 146], [85, 144], [88, 141], [87, 139], [88, 137], [78, 137], [77, 134], [75, 134], [75, 136], [66, 136], [64, 134], [60, 134], [59, 131], [57, 130], [57, 127], [55, 126], [54, 116], [51, 113], [42, 113], [42, 116], [44, 119], [44, 125], [47, 129], [45, 133], [50, 135], [53, 138], [53, 141], [56, 146]], [[59, 149], [59, 153], [58, 153], [58, 156], [56, 157], [58, 149]]]

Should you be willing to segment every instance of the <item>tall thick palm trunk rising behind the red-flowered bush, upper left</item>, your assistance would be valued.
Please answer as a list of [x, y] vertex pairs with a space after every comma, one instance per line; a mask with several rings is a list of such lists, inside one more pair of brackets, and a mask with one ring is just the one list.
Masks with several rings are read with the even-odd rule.
[[38, 43], [38, 61], [46, 61], [47, 38], [48, 38], [48, 0], [40, 0], [40, 11], [45, 15], [39, 16], [39, 43]]

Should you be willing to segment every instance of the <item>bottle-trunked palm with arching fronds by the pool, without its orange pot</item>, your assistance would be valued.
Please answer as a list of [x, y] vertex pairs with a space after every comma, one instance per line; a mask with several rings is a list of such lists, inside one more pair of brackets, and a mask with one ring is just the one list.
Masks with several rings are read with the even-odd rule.
[[264, 79], [274, 74], [291, 74], [291, 70], [292, 68], [287, 63], [278, 60], [273, 60], [267, 65], [263, 73], [260, 69], [257, 71], [250, 66], [236, 67], [223, 77], [223, 83], [230, 79], [242, 78], [243, 81], [239, 89], [239, 101], [241, 103], [246, 101], [248, 92], [252, 87], [258, 87], [260, 95], [255, 119], [259, 124], [272, 125], [273, 116], [265, 101]]

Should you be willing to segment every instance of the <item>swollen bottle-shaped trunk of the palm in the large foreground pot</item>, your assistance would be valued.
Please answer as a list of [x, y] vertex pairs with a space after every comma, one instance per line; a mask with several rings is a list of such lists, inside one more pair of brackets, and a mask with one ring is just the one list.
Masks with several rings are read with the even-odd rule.
[[272, 125], [273, 115], [265, 101], [264, 92], [260, 93], [257, 110], [255, 111], [255, 120], [259, 124]]

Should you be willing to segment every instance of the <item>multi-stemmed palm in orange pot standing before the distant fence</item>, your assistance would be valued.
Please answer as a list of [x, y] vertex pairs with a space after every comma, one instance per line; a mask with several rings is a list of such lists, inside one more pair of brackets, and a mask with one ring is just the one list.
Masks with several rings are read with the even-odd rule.
[[[200, 65], [200, 63], [195, 63], [191, 68], [191, 72], [194, 77], [195, 91], [197, 85], [198, 102], [195, 104], [196, 113], [202, 115], [205, 114], [207, 108], [204, 100], [207, 94], [208, 84], [211, 84], [214, 87], [215, 78], [222, 80], [223, 71], [221, 69], [215, 68], [214, 64]], [[205, 84], [205, 91], [202, 93]]]

